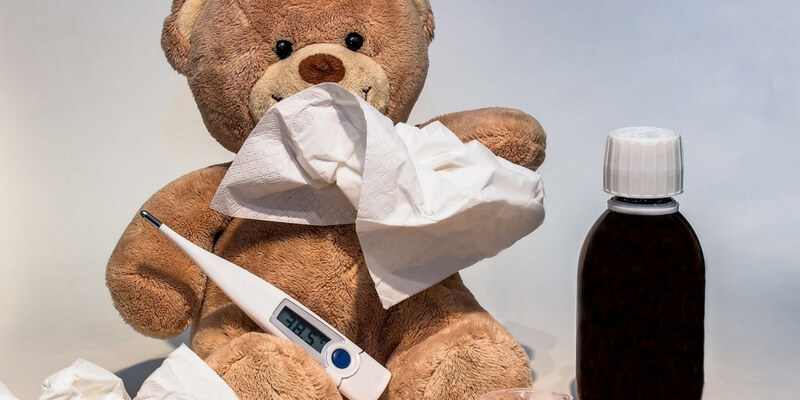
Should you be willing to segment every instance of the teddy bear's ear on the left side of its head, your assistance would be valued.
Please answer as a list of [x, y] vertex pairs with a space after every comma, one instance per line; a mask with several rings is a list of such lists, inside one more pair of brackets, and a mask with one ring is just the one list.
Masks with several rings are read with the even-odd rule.
[[205, 5], [206, 0], [173, 0], [172, 12], [164, 20], [161, 47], [172, 68], [181, 74], [186, 71], [194, 23]]

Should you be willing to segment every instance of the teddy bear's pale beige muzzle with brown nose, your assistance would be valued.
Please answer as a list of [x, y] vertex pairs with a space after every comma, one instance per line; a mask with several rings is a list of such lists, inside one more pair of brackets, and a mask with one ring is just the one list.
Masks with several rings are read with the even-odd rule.
[[389, 79], [371, 57], [344, 46], [305, 46], [264, 71], [250, 92], [250, 116], [258, 122], [270, 107], [311, 86], [337, 83], [381, 113], [389, 106]]

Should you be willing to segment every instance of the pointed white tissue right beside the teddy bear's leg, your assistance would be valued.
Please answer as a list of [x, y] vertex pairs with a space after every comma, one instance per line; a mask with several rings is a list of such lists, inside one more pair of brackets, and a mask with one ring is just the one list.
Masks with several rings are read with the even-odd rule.
[[134, 400], [237, 400], [197, 354], [182, 344], [142, 384]]

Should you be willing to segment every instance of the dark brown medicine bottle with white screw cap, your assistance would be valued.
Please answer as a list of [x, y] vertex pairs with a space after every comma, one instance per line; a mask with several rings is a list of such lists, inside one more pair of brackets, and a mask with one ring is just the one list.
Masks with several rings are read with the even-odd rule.
[[[580, 400], [702, 397], [703, 253], [694, 230], [678, 212], [678, 203], [654, 195], [682, 191], [677, 138], [677, 166], [661, 167], [677, 168], [677, 174], [660, 182], [659, 190], [630, 178], [637, 173], [631, 165], [639, 168], [642, 159], [659, 156], [642, 153], [635, 145], [620, 150], [618, 143], [611, 143], [619, 138], [609, 138], [605, 187], [616, 196], [589, 231], [578, 268]], [[666, 153], [674, 151], [673, 145]], [[627, 161], [630, 157], [637, 162]], [[620, 172], [621, 168], [629, 170]], [[619, 179], [620, 173], [625, 179]], [[653, 179], [645, 175], [639, 177]]]

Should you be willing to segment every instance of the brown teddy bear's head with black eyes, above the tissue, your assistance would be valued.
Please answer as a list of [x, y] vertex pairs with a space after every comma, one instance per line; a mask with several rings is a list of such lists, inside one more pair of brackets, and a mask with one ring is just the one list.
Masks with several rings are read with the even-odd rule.
[[162, 47], [211, 135], [237, 152], [270, 107], [322, 82], [406, 121], [433, 27], [428, 0], [174, 0]]

